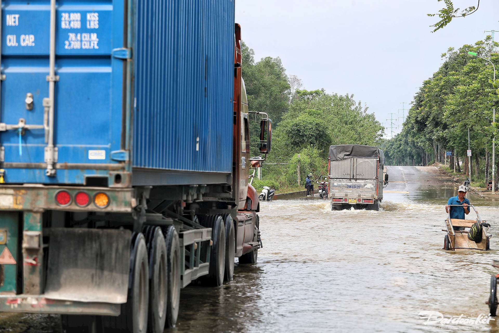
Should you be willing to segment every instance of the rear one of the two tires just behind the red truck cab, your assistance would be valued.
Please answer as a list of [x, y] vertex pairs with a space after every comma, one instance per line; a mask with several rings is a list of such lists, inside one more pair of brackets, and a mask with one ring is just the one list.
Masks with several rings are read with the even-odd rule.
[[205, 286], [218, 287], [224, 283], [226, 266], [225, 225], [222, 216], [206, 215], [201, 225], [212, 228], [212, 252], [210, 254], [210, 271], [207, 276], [201, 277], [200, 282]]

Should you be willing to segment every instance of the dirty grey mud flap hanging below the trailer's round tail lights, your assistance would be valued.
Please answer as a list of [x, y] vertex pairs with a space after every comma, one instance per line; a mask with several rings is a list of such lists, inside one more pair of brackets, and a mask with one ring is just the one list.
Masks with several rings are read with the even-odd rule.
[[51, 228], [45, 298], [126, 303], [131, 238], [128, 230]]

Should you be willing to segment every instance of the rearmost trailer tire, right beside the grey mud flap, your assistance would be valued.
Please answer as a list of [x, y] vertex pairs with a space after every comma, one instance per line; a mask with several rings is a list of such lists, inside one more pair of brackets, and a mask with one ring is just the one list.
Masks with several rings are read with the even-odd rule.
[[103, 317], [104, 331], [146, 333], [149, 308], [149, 267], [147, 246], [142, 233], [132, 237], [127, 302], [118, 317]]

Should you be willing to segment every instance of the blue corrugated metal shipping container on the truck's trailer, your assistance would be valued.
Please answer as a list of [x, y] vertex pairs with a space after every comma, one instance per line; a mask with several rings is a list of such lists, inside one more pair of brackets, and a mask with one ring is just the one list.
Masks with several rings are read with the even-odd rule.
[[233, 0], [1, 3], [6, 183], [232, 171]]

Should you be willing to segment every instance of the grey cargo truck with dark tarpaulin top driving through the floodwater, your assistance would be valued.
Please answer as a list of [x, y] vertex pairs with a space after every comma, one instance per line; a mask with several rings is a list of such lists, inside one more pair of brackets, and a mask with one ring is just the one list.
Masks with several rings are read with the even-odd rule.
[[379, 210], [388, 184], [385, 155], [378, 147], [357, 144], [329, 147], [331, 210]]

